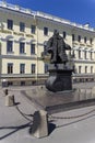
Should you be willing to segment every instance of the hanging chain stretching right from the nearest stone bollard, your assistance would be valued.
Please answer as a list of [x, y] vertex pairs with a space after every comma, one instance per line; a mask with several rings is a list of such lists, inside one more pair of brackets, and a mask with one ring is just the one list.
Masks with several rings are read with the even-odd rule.
[[85, 117], [85, 116], [88, 116], [91, 114], [92, 112], [95, 112], [95, 109], [86, 112], [86, 113], [82, 113], [82, 114], [78, 114], [78, 116], [70, 116], [70, 117], [56, 117], [56, 116], [51, 116], [51, 114], [48, 114], [48, 118], [51, 120], [51, 119], [57, 119], [57, 120], [62, 120], [62, 119], [78, 119], [78, 118], [82, 118], [82, 117]]

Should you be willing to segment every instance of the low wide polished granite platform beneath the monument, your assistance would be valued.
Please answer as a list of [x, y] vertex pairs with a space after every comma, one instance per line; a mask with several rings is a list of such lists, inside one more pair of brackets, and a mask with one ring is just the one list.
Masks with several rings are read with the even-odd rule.
[[[83, 89], [84, 90], [84, 89]], [[88, 91], [79, 92], [79, 90], [51, 92], [45, 87], [34, 88], [22, 91], [38, 110], [46, 110], [48, 113], [55, 113], [75, 108], [95, 105], [95, 94]]]

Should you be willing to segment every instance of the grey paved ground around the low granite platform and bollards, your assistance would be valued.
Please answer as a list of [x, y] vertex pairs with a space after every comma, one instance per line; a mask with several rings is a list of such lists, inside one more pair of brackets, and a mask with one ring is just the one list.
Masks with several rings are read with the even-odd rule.
[[[75, 84], [74, 88], [93, 88], [94, 82]], [[0, 88], [0, 143], [95, 143], [95, 106], [69, 110], [49, 116], [49, 135], [36, 139], [29, 130], [33, 114], [37, 110], [22, 89], [33, 87], [9, 87], [16, 106], [5, 107], [5, 95]], [[37, 87], [36, 87], [37, 88]]]

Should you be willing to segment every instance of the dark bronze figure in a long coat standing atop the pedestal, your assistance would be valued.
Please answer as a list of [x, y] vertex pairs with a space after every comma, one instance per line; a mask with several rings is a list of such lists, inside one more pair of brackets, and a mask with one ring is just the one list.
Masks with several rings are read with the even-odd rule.
[[71, 50], [71, 47], [64, 43], [63, 37], [61, 37], [59, 32], [55, 30], [54, 35], [47, 42], [46, 50], [51, 54], [51, 64], [66, 64], [68, 62], [66, 50]]

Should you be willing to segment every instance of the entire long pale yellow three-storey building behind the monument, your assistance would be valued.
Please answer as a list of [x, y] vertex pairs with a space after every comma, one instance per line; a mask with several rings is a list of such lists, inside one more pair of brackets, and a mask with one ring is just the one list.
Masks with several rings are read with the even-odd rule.
[[45, 43], [58, 30], [74, 55], [73, 80], [95, 78], [95, 30], [0, 1], [0, 84], [33, 85], [48, 76]]

